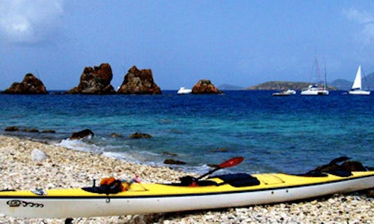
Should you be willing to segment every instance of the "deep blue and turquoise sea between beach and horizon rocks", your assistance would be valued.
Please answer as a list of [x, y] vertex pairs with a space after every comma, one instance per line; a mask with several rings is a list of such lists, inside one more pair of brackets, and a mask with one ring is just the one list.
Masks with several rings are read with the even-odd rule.
[[[44, 140], [131, 162], [203, 173], [235, 156], [227, 171], [302, 173], [339, 156], [374, 166], [374, 95], [272, 97], [271, 91], [224, 95], [0, 95], [0, 134]], [[53, 129], [56, 133], [6, 132]], [[95, 136], [69, 140], [91, 129]], [[132, 133], [150, 139], [130, 139]], [[113, 138], [118, 133], [121, 138]], [[225, 150], [222, 150], [225, 149]], [[167, 153], [176, 153], [171, 156]]]

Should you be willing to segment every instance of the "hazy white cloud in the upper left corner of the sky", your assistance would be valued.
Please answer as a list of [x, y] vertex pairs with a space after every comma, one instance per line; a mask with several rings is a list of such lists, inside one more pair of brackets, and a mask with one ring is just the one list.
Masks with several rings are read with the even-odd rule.
[[62, 24], [63, 14], [63, 0], [1, 0], [1, 39], [12, 44], [50, 41]]

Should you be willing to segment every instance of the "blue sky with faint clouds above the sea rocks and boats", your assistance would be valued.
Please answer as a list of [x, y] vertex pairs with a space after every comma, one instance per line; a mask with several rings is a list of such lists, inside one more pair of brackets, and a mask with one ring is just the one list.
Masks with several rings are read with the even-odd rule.
[[374, 1], [0, 0], [0, 89], [33, 73], [47, 90], [78, 86], [85, 66], [132, 67], [163, 90], [353, 82], [374, 72]]

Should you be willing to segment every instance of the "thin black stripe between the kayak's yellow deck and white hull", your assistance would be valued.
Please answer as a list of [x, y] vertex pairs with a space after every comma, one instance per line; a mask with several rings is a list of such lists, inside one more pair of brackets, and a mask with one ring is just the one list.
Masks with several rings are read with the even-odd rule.
[[[312, 183], [308, 185], [294, 185], [294, 186], [285, 186], [285, 187], [269, 187], [269, 188], [262, 188], [262, 189], [245, 189], [242, 191], [228, 191], [228, 192], [207, 192], [207, 193], [192, 193], [192, 194], [157, 194], [157, 195], [143, 195], [143, 196], [115, 196], [112, 194], [109, 194], [107, 196], [106, 194], [100, 194], [99, 196], [0, 196], [1, 198], [33, 198], [33, 199], [70, 199], [70, 198], [79, 198], [79, 199], [96, 199], [96, 198], [128, 198], [128, 199], [133, 199], [133, 198], [171, 198], [171, 197], [186, 197], [186, 196], [211, 196], [211, 195], [218, 195], [218, 194], [242, 194], [242, 193], [249, 193], [249, 192], [266, 192], [266, 191], [271, 191], [271, 190], [280, 190], [280, 189], [292, 189], [292, 188], [298, 188], [298, 187], [310, 187], [314, 185], [326, 185], [330, 183], [338, 183], [342, 181], [350, 181], [350, 180], [357, 180], [357, 179], [362, 179], [362, 178], [368, 178], [372, 177], [374, 174], [368, 175], [368, 176], [358, 176], [358, 177], [353, 177], [353, 178], [344, 178], [342, 180], [332, 180], [328, 182], [323, 182], [323, 183]], [[238, 187], [239, 188], [239, 187]], [[368, 189], [370, 189], [369, 187]], [[364, 190], [364, 189], [360, 189]]]

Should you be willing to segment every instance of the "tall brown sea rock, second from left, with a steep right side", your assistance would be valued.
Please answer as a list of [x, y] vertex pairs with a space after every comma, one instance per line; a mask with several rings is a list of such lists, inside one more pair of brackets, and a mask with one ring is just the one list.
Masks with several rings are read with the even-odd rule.
[[113, 78], [112, 68], [109, 64], [103, 63], [100, 66], [85, 67], [78, 86], [67, 91], [68, 94], [115, 94], [110, 84]]

